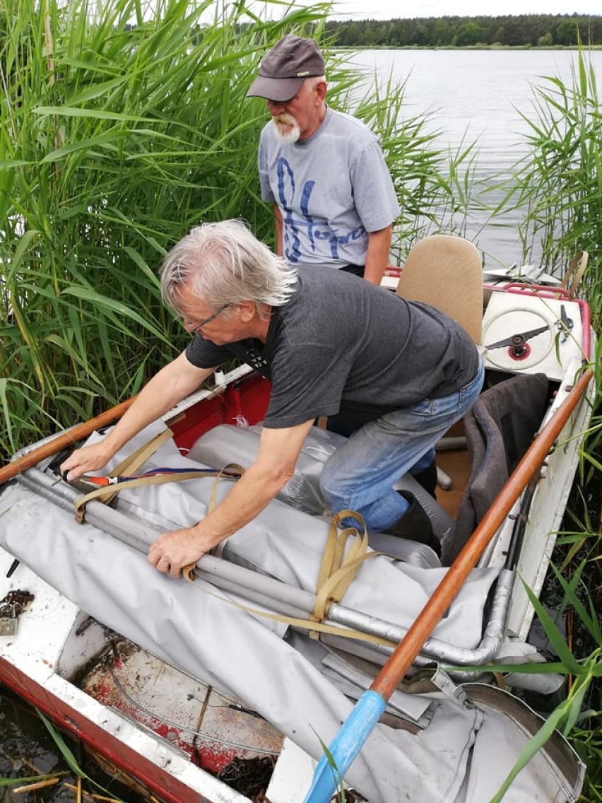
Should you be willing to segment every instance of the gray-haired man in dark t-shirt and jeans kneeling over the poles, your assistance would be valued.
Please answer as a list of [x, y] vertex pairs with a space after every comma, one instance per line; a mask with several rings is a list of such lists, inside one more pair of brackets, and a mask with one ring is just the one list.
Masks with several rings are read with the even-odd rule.
[[364, 423], [323, 468], [332, 512], [355, 510], [368, 530], [437, 548], [417, 500], [393, 484], [478, 396], [482, 361], [463, 328], [341, 271], [292, 267], [233, 220], [177, 243], [161, 287], [193, 340], [104, 440], [71, 454], [68, 480], [103, 467], [232, 357], [269, 378], [271, 392], [257, 459], [203, 520], [159, 536], [148, 553], [157, 569], [177, 576], [254, 519], [293, 475], [315, 418], [340, 411]]

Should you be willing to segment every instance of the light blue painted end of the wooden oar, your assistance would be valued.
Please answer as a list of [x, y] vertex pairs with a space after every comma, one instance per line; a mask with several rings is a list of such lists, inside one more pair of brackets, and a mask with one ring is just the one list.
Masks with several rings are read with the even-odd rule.
[[386, 707], [386, 701], [377, 691], [364, 691], [328, 745], [335, 766], [329, 764], [327, 756], [322, 756], [304, 803], [328, 803]]

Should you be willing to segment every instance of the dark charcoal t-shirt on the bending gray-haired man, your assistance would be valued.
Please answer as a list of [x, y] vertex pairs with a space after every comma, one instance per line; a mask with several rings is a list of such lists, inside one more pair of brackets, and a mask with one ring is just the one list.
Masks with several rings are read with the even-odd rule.
[[218, 346], [196, 335], [186, 357], [213, 368], [232, 356], [272, 381], [264, 424], [296, 426], [344, 412], [366, 422], [448, 396], [477, 373], [462, 327], [428, 304], [343, 271], [299, 267], [294, 296], [272, 308], [265, 344]]

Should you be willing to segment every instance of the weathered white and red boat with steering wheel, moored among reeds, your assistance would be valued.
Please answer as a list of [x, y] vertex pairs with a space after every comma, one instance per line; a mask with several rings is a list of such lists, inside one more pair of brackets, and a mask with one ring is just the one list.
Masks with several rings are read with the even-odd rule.
[[[539, 727], [532, 711], [491, 685], [489, 670], [474, 665], [541, 659], [528, 641], [533, 608], [525, 586], [536, 596], [542, 589], [576, 472], [592, 412], [593, 382], [584, 365], [595, 353], [593, 339], [588, 305], [563, 288], [487, 288], [482, 407], [465, 431], [459, 427], [441, 443], [437, 463], [450, 487], [437, 489], [436, 509], [423, 501], [441, 538], [444, 563], [462, 554], [475, 525], [490, 531], [488, 545], [454, 603], [459, 608], [450, 606], [421, 646], [411, 677], [388, 700], [378, 732], [354, 763], [348, 781], [359, 791], [351, 799], [490, 799], [484, 795], [495, 792]], [[502, 426], [493, 434], [502, 437], [511, 411], [499, 407], [500, 389], [514, 389], [519, 407], [528, 408], [535, 402], [523, 394], [538, 381], [539, 434], [531, 438], [532, 431], [522, 456], [515, 455], [518, 467], [509, 479], [494, 467], [479, 485], [482, 472], [490, 471], [490, 442], [478, 446], [474, 438], [496, 416]], [[218, 377], [214, 389], [201, 390], [166, 417], [173, 438], [157, 455], [171, 451], [151, 463], [167, 459], [173, 468], [187, 455], [181, 458], [187, 469], [219, 471], [248, 462], [268, 397], [269, 383], [247, 366]], [[504, 403], [516, 406], [516, 398], [510, 393]], [[308, 559], [307, 567], [297, 563], [303, 563], [306, 544], [327, 538], [319, 499], [315, 507], [315, 478], [336, 439], [315, 427], [298, 475], [259, 527], [246, 534], [245, 545], [232, 536], [234, 547], [229, 544], [222, 556], [204, 556], [194, 583], [160, 575], [145, 560], [145, 544], [179, 513], [165, 512], [157, 499], [176, 496], [181, 512], [192, 498], [188, 515], [195, 516], [197, 495], [226, 493], [231, 478], [226, 471], [217, 478], [126, 488], [108, 503], [90, 499], [85, 523], [75, 522], [75, 504], [86, 489], [61, 479], [65, 449], [110, 426], [126, 407], [33, 444], [0, 474], [0, 680], [135, 782], [149, 800], [234, 803], [263, 793], [271, 803], [303, 801], [323, 750], [319, 739], [328, 743], [352, 705], [348, 701], [388, 660], [446, 568], [429, 548], [400, 542], [397, 560], [380, 556], [364, 563], [327, 612], [332, 632], [317, 632], [304, 609], [308, 598], [309, 605], [315, 602], [304, 571], [315, 573], [319, 556]], [[10, 475], [14, 479], [6, 482]], [[486, 501], [491, 487], [493, 497]], [[137, 494], [145, 495], [143, 502]], [[455, 528], [464, 519], [466, 530], [467, 510], [473, 520], [460, 534]], [[270, 550], [288, 539], [293, 552], [284, 554], [283, 568]], [[391, 548], [378, 534], [371, 544], [384, 552]], [[376, 575], [368, 577], [377, 571], [372, 565], [384, 567], [384, 588], [389, 572], [409, 572], [419, 599], [410, 598], [401, 613], [397, 601], [390, 610], [383, 608], [386, 600], [373, 601], [379, 589]], [[300, 588], [291, 579], [297, 575]], [[360, 588], [363, 577], [368, 593]], [[476, 597], [466, 591], [470, 585]], [[360, 601], [368, 613], [357, 609]], [[310, 630], [313, 624], [313, 637], [300, 618], [309, 620]], [[458, 630], [446, 630], [454, 618], [459, 637]], [[353, 638], [344, 630], [353, 630]], [[433, 662], [445, 665], [446, 673], [433, 671]], [[506, 686], [523, 695], [520, 687], [528, 688], [533, 677], [507, 675]], [[456, 720], [469, 711], [478, 712], [481, 724], [458, 726]], [[497, 736], [487, 737], [488, 727]], [[477, 732], [483, 744], [494, 745], [493, 761], [486, 749], [474, 752], [477, 739], [470, 749], [468, 742], [458, 746], [466, 733], [472, 739]], [[507, 744], [502, 733], [510, 733]], [[562, 737], [555, 735], [539, 755], [539, 764], [531, 762], [531, 777], [523, 774], [507, 800], [576, 800], [584, 767]], [[445, 788], [448, 797], [441, 793]]]

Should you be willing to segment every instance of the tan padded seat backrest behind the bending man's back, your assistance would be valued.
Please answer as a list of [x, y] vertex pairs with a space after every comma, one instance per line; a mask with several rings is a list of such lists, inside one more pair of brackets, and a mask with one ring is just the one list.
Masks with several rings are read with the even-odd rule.
[[419, 240], [405, 260], [396, 292], [445, 312], [480, 344], [483, 271], [470, 240], [455, 234], [432, 234]]

